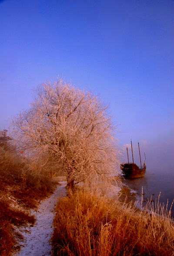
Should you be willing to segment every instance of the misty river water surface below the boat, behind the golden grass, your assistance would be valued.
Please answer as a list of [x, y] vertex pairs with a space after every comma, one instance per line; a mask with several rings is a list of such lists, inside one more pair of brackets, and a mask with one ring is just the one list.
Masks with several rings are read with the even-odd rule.
[[[134, 189], [140, 195], [142, 194], [143, 187], [143, 204], [145, 205], [148, 200], [158, 201], [161, 204], [167, 205], [168, 200], [168, 210], [171, 208], [172, 202], [174, 200], [174, 174], [157, 174], [156, 173], [146, 173], [143, 178], [139, 179], [126, 179], [124, 184], [129, 188]], [[171, 209], [171, 216], [174, 218], [174, 205]]]

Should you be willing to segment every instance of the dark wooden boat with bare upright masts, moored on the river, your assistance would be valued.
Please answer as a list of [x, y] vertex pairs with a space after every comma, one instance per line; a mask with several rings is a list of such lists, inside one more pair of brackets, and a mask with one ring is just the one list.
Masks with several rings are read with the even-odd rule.
[[[131, 141], [131, 148], [132, 148], [132, 141]], [[140, 153], [139, 143], [138, 143], [138, 148], [139, 148], [139, 153]], [[144, 153], [144, 155], [145, 155], [145, 153]], [[134, 163], [133, 150], [132, 150], [133, 162], [132, 163], [129, 162], [128, 150], [127, 150], [127, 158], [128, 158], [127, 163], [120, 164], [120, 169], [122, 170], [122, 173], [125, 176], [125, 178], [137, 179], [137, 178], [144, 177], [145, 172], [146, 172], [145, 161], [144, 161], [144, 166], [142, 166], [142, 165], [137, 166]], [[146, 156], [145, 156], [145, 160], [146, 160]], [[140, 163], [141, 163], [141, 154], [140, 154]]]

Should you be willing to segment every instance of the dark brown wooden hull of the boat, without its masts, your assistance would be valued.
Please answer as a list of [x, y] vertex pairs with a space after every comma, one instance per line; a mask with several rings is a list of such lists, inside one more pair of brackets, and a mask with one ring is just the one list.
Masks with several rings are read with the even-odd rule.
[[143, 168], [139, 168], [134, 163], [124, 163], [120, 164], [120, 168], [126, 178], [137, 179], [142, 178], [146, 172], [146, 165]]

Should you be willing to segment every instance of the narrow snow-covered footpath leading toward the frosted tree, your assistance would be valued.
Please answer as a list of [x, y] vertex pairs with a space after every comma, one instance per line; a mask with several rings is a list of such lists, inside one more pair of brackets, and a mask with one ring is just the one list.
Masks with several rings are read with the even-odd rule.
[[36, 216], [34, 226], [29, 226], [22, 232], [24, 237], [23, 243], [20, 243], [21, 250], [15, 256], [49, 256], [51, 255], [51, 245], [49, 239], [53, 233], [54, 208], [57, 199], [65, 196], [66, 182], [60, 182], [61, 186], [57, 186], [54, 194], [43, 200], [36, 211], [31, 214]]

